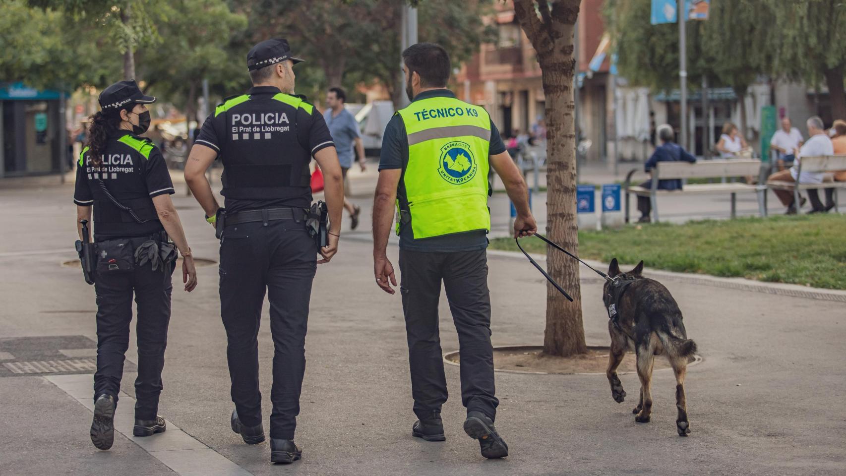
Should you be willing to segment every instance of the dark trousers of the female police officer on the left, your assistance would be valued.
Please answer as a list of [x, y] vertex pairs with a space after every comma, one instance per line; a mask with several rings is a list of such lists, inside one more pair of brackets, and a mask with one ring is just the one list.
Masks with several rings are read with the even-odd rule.
[[[134, 243], [135, 245], [139, 243]], [[155, 419], [162, 393], [164, 349], [168, 343], [171, 276], [175, 262], [153, 271], [151, 265], [133, 271], [100, 273], [97, 295], [97, 371], [94, 398], [112, 395], [118, 401], [124, 376], [124, 354], [129, 348], [132, 297], [138, 308], [135, 334], [138, 343], [138, 378], [135, 379], [135, 418]]]

